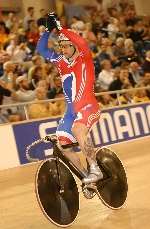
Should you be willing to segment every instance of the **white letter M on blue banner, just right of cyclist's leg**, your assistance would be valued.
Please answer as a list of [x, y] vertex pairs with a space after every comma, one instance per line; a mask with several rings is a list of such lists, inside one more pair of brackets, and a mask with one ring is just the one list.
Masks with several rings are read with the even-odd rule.
[[[106, 122], [108, 124], [108, 128], [106, 127]], [[117, 140], [114, 123], [109, 113], [101, 114], [100, 129], [102, 133], [102, 140], [104, 143]], [[109, 139], [108, 131], [110, 134], [110, 139]]]

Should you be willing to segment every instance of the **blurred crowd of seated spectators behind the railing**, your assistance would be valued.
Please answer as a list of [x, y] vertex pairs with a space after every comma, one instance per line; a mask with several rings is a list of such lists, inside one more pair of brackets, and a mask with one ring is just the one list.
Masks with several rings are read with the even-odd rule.
[[[137, 16], [130, 0], [114, 0], [104, 5], [96, 0], [91, 6], [76, 5], [71, 0], [57, 1], [61, 24], [83, 36], [91, 49], [95, 66], [95, 92], [100, 107], [150, 101], [149, 90], [120, 94], [107, 91], [150, 86], [150, 16]], [[43, 6], [44, 7], [44, 6]], [[24, 18], [15, 13], [0, 13], [0, 105], [34, 101], [26, 107], [30, 119], [62, 115], [63, 100], [36, 103], [63, 97], [56, 67], [36, 50], [44, 32], [46, 9], [35, 18], [33, 6]], [[59, 52], [55, 31], [49, 48]], [[23, 106], [0, 109], [0, 123], [25, 119]]]

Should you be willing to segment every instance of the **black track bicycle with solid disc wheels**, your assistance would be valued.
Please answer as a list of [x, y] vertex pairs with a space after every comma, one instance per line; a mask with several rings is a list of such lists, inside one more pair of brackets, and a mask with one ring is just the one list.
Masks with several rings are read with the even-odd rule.
[[80, 208], [75, 176], [81, 180], [85, 198], [92, 199], [98, 195], [104, 205], [114, 210], [124, 205], [128, 192], [127, 177], [124, 166], [114, 151], [107, 147], [96, 150], [96, 160], [103, 172], [103, 179], [84, 184], [82, 179], [85, 174], [63, 154], [63, 149], [76, 147], [78, 143], [64, 145], [60, 149], [55, 135], [46, 136], [27, 147], [26, 157], [29, 161], [37, 160], [31, 157], [30, 149], [41, 142], [51, 142], [53, 145], [53, 155], [40, 163], [35, 179], [39, 206], [50, 222], [67, 227], [75, 221]]

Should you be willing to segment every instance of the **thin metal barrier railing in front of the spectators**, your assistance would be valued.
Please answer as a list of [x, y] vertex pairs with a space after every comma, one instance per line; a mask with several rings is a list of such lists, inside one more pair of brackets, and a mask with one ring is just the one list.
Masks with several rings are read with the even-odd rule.
[[[150, 86], [147, 87], [137, 87], [137, 88], [130, 88], [130, 89], [122, 89], [122, 90], [116, 90], [116, 91], [106, 91], [106, 92], [100, 92], [100, 93], [95, 93], [96, 97], [105, 95], [105, 94], [116, 94], [117, 96], [117, 101], [119, 106], [121, 106], [120, 101], [119, 101], [119, 96], [123, 93], [128, 93], [128, 92], [134, 92], [137, 90], [150, 90]], [[21, 102], [21, 103], [12, 103], [12, 104], [5, 104], [5, 105], [0, 105], [0, 110], [2, 108], [12, 108], [12, 107], [23, 107], [24, 113], [25, 113], [25, 119], [29, 120], [29, 115], [28, 115], [28, 109], [27, 106], [31, 104], [37, 104], [37, 103], [47, 103], [47, 102], [56, 102], [56, 101], [61, 101], [64, 100], [64, 98], [55, 98], [55, 99], [46, 99], [46, 100], [37, 100], [37, 101], [31, 101], [31, 102]]]

